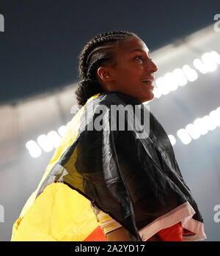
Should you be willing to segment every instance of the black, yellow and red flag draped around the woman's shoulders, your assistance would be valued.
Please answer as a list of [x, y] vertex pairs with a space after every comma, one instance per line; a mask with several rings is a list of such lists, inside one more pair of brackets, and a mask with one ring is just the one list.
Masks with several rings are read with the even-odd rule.
[[[111, 106], [128, 105], [112, 114]], [[135, 106], [144, 107], [120, 92], [87, 100], [15, 222], [12, 241], [106, 241], [91, 202], [122, 224], [132, 241], [146, 241], [177, 222], [191, 231], [183, 240], [206, 238], [166, 132], [150, 112], [149, 129], [140, 132], [143, 116], [136, 122]]]

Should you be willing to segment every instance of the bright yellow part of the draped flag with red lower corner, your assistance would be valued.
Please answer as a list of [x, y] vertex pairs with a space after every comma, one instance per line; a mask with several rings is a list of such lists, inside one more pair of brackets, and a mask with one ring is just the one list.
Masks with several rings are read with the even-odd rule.
[[39, 193], [51, 170], [76, 140], [83, 111], [73, 117], [38, 188], [13, 225], [11, 241], [106, 241], [87, 197], [56, 179], [47, 181]]

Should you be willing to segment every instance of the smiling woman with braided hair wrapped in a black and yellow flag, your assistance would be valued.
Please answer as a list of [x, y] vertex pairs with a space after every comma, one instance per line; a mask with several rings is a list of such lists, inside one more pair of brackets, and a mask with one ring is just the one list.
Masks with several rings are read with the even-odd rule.
[[[107, 241], [205, 239], [166, 132], [150, 112], [142, 125], [142, 103], [153, 100], [158, 70], [145, 43], [134, 33], [106, 32], [89, 40], [79, 58], [76, 95], [83, 107], [15, 222], [12, 241], [104, 241], [97, 224]], [[118, 115], [112, 106], [126, 111]], [[30, 238], [33, 230], [39, 235]]]

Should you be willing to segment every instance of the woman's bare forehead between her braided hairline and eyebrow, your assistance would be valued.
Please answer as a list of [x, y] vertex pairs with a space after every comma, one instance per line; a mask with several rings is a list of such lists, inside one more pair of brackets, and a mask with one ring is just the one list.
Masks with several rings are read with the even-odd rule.
[[131, 52], [136, 49], [142, 49], [142, 51], [145, 51], [147, 54], [149, 52], [147, 45], [139, 37], [127, 37], [120, 43], [116, 54], [131, 54]]

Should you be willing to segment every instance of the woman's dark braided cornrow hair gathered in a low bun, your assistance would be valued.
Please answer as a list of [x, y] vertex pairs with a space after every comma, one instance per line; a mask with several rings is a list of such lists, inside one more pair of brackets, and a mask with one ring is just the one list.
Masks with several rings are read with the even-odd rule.
[[112, 67], [114, 62], [114, 48], [125, 39], [125, 37], [136, 36], [136, 34], [125, 31], [111, 31], [98, 34], [93, 37], [78, 55], [78, 72], [82, 81], [76, 89], [78, 104], [83, 106], [93, 95], [102, 91], [96, 76], [98, 67], [108, 63]]

